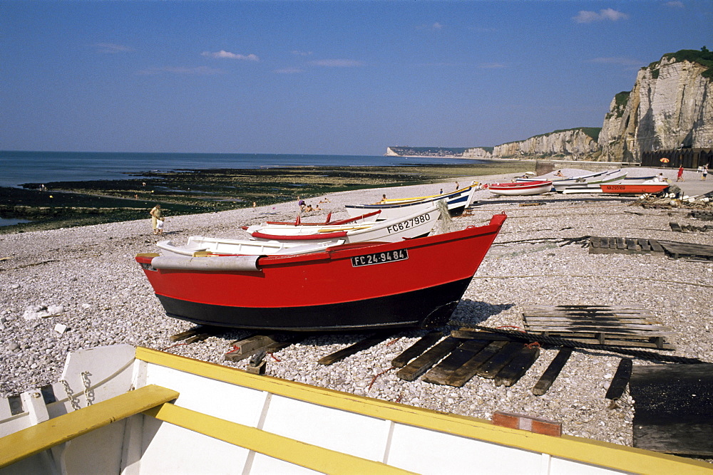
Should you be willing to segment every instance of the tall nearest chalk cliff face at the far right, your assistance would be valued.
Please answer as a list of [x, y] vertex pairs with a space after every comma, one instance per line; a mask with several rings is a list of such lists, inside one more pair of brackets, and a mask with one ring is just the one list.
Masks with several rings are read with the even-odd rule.
[[686, 59], [694, 53], [701, 54], [663, 56], [639, 71], [630, 93], [616, 95], [599, 135], [602, 160], [639, 162], [650, 150], [713, 145], [713, 79], [707, 61]]

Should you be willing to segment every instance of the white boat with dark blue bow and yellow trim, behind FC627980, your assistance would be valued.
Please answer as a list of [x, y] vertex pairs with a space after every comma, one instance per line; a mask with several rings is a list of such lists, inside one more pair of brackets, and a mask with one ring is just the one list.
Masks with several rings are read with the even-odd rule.
[[428, 197], [383, 199], [381, 202], [374, 204], [348, 204], [346, 206], [347, 214], [349, 216], [359, 216], [359, 214], [380, 209], [381, 215], [379, 219], [396, 219], [404, 216], [404, 214], [411, 214], [411, 207], [425, 209], [428, 204], [443, 200], [446, 202], [448, 214], [460, 216], [468, 204], [473, 201], [473, 194], [475, 194], [476, 189], [478, 187], [471, 184], [468, 187], [456, 189], [452, 193], [434, 194]]

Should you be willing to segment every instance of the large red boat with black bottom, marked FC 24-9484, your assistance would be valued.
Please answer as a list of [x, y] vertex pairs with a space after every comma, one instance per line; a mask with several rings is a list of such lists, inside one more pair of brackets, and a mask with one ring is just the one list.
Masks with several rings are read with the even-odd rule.
[[451, 317], [505, 219], [496, 214], [486, 226], [309, 254], [135, 259], [166, 313], [194, 323], [285, 331], [429, 327]]

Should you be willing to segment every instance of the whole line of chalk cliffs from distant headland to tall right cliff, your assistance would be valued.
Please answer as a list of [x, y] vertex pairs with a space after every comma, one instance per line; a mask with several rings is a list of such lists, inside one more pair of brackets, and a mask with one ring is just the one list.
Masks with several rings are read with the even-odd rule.
[[666, 53], [641, 68], [632, 90], [612, 98], [602, 127], [555, 130], [493, 147], [392, 146], [384, 155], [642, 163], [670, 153], [695, 155], [698, 162], [712, 149], [713, 52], [703, 46]]

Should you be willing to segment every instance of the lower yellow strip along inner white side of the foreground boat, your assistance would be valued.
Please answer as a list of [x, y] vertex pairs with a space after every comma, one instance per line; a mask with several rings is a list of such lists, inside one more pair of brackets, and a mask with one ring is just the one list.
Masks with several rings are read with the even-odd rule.
[[144, 412], [163, 422], [325, 474], [412, 474], [379, 461], [325, 449], [255, 427], [229, 422], [174, 404]]

